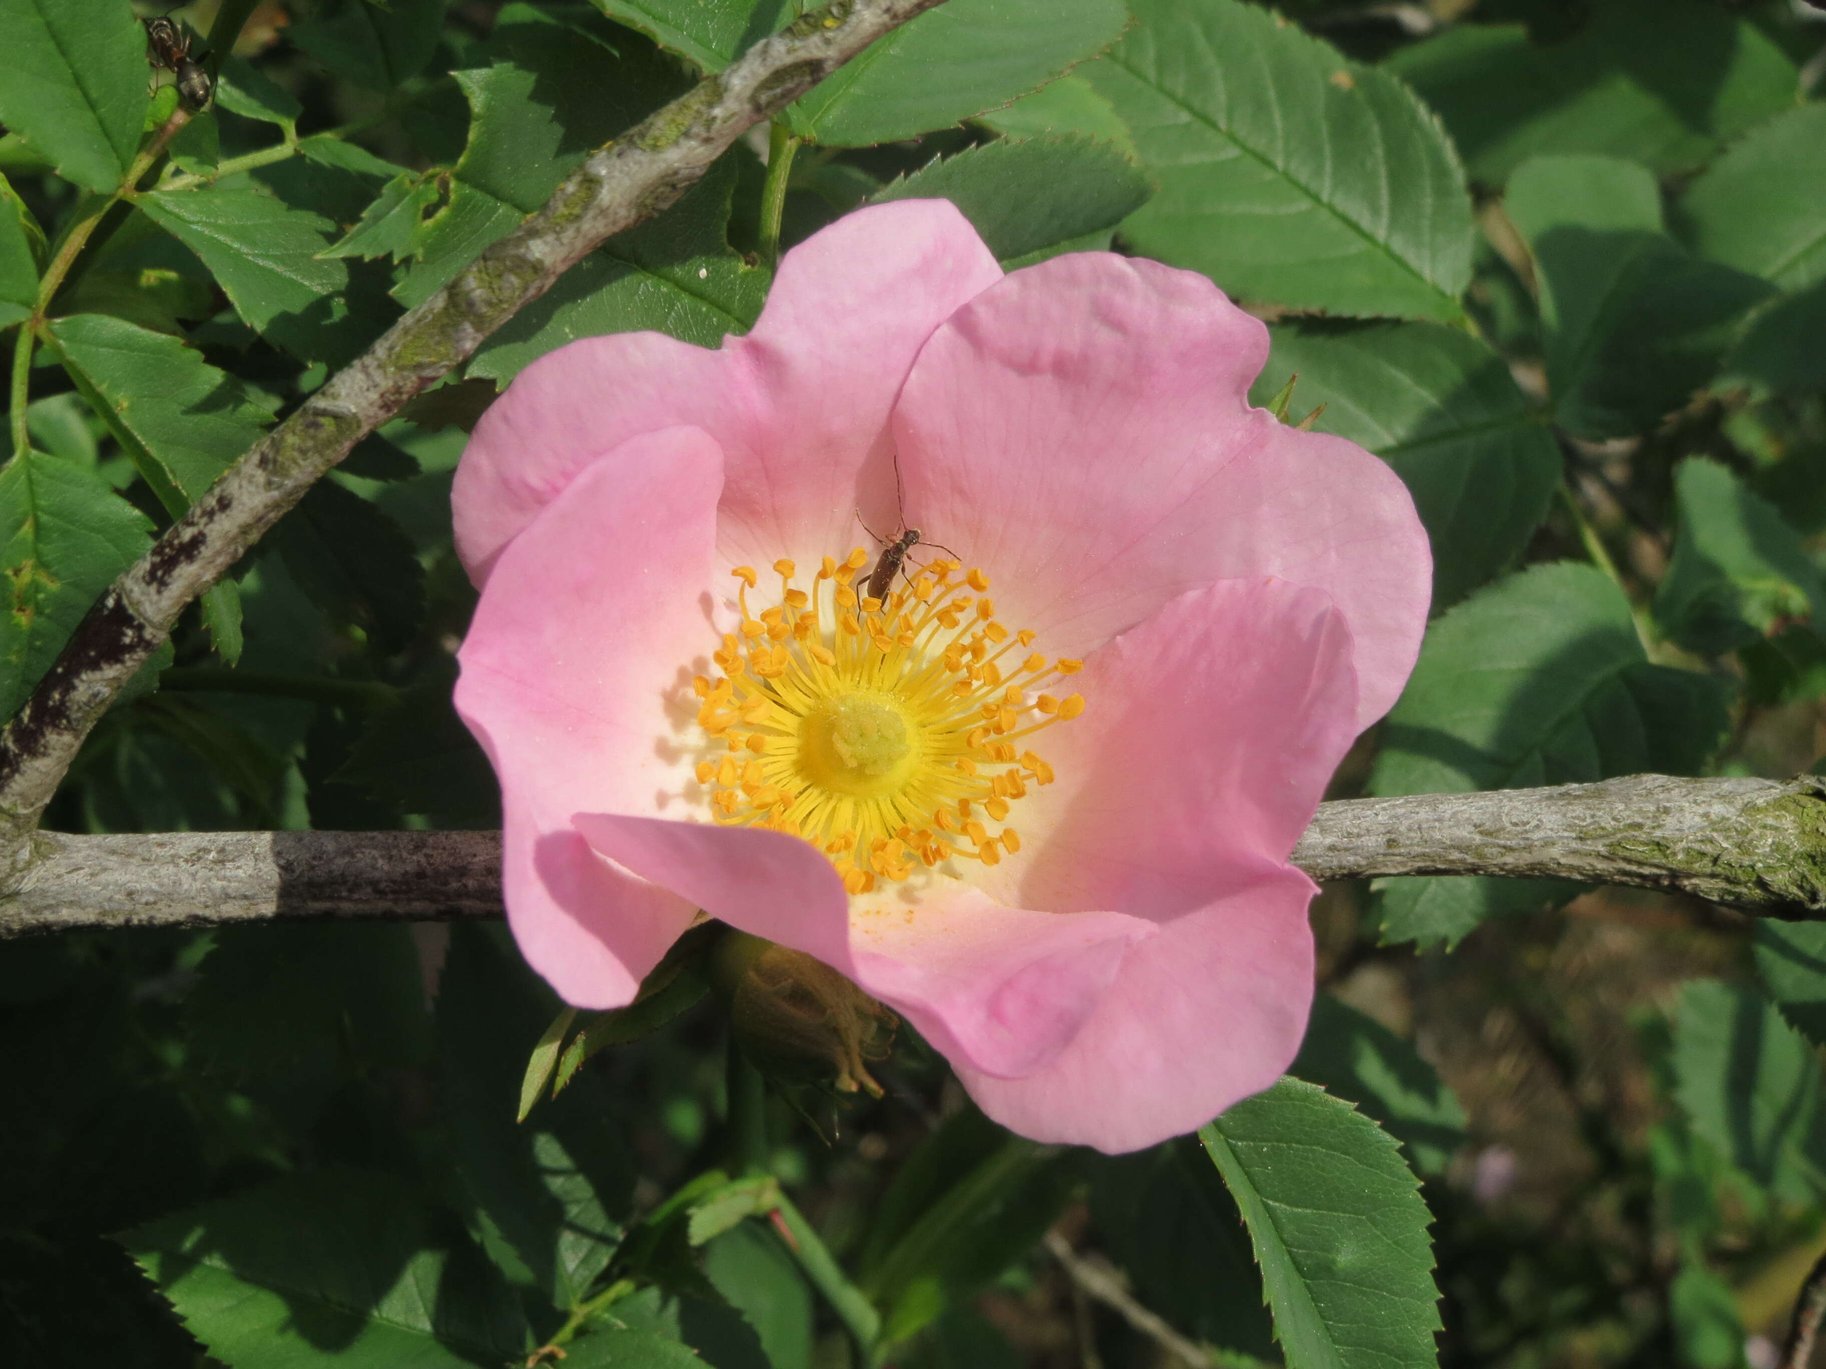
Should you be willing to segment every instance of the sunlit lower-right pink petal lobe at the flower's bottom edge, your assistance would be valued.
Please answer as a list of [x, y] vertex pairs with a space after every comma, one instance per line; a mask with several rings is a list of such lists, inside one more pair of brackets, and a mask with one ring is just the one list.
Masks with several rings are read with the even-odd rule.
[[1313, 893], [1287, 867], [1169, 922], [1128, 949], [1044, 1070], [997, 1079], [959, 1064], [959, 1079], [990, 1117], [1035, 1141], [1119, 1154], [1203, 1126], [1273, 1084], [1300, 1050]]

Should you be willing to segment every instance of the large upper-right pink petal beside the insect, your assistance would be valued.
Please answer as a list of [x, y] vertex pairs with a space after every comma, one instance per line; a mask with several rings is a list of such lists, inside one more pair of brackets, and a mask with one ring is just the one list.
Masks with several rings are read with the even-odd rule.
[[1083, 655], [1183, 590], [1324, 590], [1357, 650], [1357, 725], [1426, 626], [1432, 557], [1401, 478], [1251, 409], [1267, 330], [1203, 276], [1081, 252], [984, 290], [895, 407], [908, 522], [995, 580], [1010, 626]]

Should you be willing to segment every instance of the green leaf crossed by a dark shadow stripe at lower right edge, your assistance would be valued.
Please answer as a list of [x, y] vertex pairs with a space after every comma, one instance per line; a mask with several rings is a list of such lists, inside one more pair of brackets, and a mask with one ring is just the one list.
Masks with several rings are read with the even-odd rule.
[[1793, 1203], [1826, 1188], [1821, 1064], [1753, 989], [1693, 980], [1674, 1019], [1674, 1101], [1695, 1134]]

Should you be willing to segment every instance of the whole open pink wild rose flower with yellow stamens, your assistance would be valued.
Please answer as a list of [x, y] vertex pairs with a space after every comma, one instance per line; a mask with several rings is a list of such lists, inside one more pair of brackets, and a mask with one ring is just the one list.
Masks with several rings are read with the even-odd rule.
[[[1287, 854], [1408, 677], [1430, 555], [1380, 460], [1249, 405], [1265, 360], [1203, 276], [1004, 276], [904, 201], [789, 252], [718, 350], [528, 367], [455, 518], [456, 706], [533, 967], [626, 1004], [701, 907], [1041, 1141], [1132, 1150], [1267, 1088], [1313, 995]], [[869, 599], [864, 524], [902, 518], [944, 549]]]

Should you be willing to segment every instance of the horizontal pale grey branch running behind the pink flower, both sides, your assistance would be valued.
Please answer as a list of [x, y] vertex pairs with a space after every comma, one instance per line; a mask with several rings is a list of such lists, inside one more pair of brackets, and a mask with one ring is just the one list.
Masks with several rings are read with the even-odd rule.
[[[0, 900], [0, 936], [500, 916], [498, 832], [40, 832], [33, 841], [24, 883]], [[1826, 918], [1826, 779], [1631, 776], [1346, 799], [1320, 805], [1293, 860], [1317, 880], [1556, 876]]]

